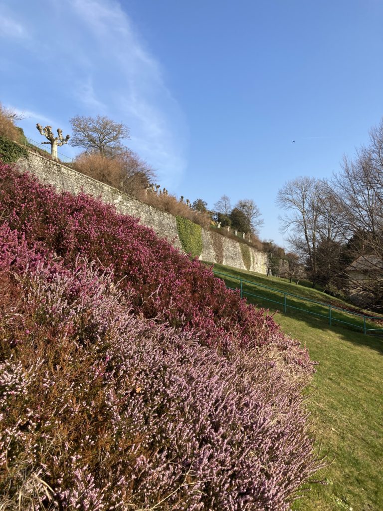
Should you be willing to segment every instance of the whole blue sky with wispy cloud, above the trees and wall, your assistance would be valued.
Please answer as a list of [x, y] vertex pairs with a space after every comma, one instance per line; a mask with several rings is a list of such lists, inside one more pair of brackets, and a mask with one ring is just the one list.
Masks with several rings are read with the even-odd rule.
[[339, 170], [383, 116], [382, 26], [381, 0], [2, 0], [0, 101], [37, 141], [127, 124], [168, 190], [252, 198], [283, 245], [278, 189]]

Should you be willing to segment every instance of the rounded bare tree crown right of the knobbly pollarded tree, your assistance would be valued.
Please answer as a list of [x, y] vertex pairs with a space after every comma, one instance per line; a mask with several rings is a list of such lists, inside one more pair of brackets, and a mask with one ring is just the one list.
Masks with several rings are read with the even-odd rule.
[[84, 117], [76, 115], [70, 119], [73, 136], [70, 144], [83, 147], [88, 153], [98, 152], [103, 156], [115, 156], [124, 151], [124, 138], [129, 138], [129, 128], [116, 123], [105, 115]]

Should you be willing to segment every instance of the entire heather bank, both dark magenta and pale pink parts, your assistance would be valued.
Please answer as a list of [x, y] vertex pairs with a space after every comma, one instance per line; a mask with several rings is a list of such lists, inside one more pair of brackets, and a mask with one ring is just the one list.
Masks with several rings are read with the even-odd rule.
[[137, 219], [0, 165], [7, 508], [288, 511], [313, 362]]

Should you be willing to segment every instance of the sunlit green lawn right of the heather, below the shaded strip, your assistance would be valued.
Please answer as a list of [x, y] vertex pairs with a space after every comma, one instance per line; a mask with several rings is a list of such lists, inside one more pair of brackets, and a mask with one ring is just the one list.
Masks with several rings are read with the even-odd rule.
[[[250, 276], [228, 267], [216, 268], [236, 276], [243, 273], [243, 278]], [[259, 275], [256, 278], [265, 279]], [[275, 284], [286, 292], [297, 293], [299, 289], [299, 294], [305, 291], [308, 297], [323, 301], [318, 291], [275, 279], [269, 285]], [[330, 329], [323, 320], [298, 312], [276, 314], [275, 320], [284, 332], [306, 343], [310, 356], [319, 362], [309, 389], [309, 407], [321, 451], [334, 458], [319, 474], [328, 484], [316, 485], [294, 505], [294, 510], [381, 511], [383, 341], [341, 327]]]

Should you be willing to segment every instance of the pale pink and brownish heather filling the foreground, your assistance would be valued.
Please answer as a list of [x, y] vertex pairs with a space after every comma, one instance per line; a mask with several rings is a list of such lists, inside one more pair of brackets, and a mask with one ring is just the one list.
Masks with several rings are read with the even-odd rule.
[[221, 355], [39, 247], [0, 229], [0, 508], [289, 509], [318, 463], [269, 346]]

